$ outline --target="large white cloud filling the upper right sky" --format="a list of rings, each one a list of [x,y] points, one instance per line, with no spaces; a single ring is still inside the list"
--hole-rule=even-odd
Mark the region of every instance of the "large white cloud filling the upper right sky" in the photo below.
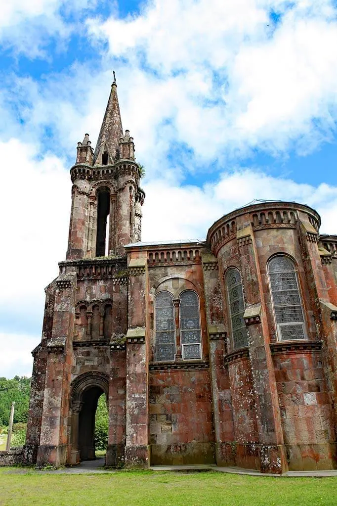
[[[276,25],[272,9],[281,15]],[[337,23],[328,0],[291,7],[157,0],[137,17],[87,24],[92,37],[108,41],[111,57],[135,69],[142,100],[134,116],[157,132],[169,117],[171,141],[187,143],[203,160],[256,147],[282,152],[294,143],[305,153],[331,138]]]

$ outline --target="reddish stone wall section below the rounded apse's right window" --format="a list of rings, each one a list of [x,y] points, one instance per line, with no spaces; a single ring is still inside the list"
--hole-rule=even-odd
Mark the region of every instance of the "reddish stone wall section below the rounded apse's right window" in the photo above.
[[[293,471],[332,468],[336,457],[320,343],[309,348],[279,347],[273,354],[284,444]]]

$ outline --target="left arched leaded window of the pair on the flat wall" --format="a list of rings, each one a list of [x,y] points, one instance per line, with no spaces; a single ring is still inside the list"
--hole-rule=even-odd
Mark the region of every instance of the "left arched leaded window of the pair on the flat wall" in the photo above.
[[[173,297],[168,291],[160,291],[155,299],[156,360],[174,360],[175,326]]]

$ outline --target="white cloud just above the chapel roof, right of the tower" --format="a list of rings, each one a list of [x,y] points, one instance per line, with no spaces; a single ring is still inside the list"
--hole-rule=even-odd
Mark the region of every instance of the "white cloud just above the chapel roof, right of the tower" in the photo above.
[[[225,172],[202,188],[160,179],[145,185],[145,190],[143,241],[203,239],[214,221],[254,199],[305,203],[320,213],[322,232],[337,232],[337,186],[324,183],[314,187],[246,168]]]

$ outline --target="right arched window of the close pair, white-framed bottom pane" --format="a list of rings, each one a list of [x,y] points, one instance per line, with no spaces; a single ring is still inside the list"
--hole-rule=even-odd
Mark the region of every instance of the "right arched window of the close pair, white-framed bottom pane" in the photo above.
[[[201,330],[199,298],[192,290],[180,295],[180,340],[182,358],[192,360],[201,358]]]

